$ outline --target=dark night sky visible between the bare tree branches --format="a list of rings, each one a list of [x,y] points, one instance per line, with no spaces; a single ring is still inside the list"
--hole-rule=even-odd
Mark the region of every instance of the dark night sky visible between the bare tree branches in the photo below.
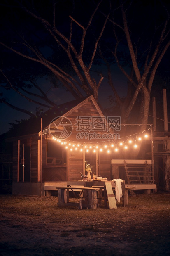
[[[35,5],[37,4],[36,5],[36,7],[37,7],[39,1],[34,1],[34,2],[35,2]],[[63,2],[65,2],[65,4],[67,4],[67,5],[65,5],[66,9],[63,8]],[[58,25],[58,28],[61,29],[62,31],[65,31],[65,34],[68,35],[68,31],[67,31],[68,30],[67,22],[68,22],[68,19],[69,19],[68,17],[72,13],[75,15],[76,12],[75,13],[72,12],[72,5],[70,4],[70,2],[72,2],[71,0],[70,1],[66,0],[66,1],[63,1],[63,2],[59,1],[58,5],[57,5],[57,14],[60,13],[61,15],[63,15],[63,19],[62,19],[62,22],[60,24],[61,15],[58,14],[59,16],[56,17],[56,26]],[[96,2],[98,2],[98,1],[96,1]],[[106,3],[107,1],[104,0],[103,2]],[[147,4],[145,4],[145,5],[142,4],[143,2],[144,1],[139,1],[139,5],[142,5],[143,11],[146,11],[146,13],[148,14],[149,7],[147,6]],[[151,1],[151,3],[152,2],[154,3],[154,1]],[[157,2],[158,1],[156,1],[156,4],[158,5]],[[163,1],[163,2],[166,3],[166,1]],[[75,3],[77,4],[77,2],[75,2]],[[88,12],[90,12],[93,9],[92,4],[91,4],[91,9],[90,10],[88,9],[89,1],[82,1],[81,0],[81,1],[79,1],[79,4],[82,4],[82,6],[85,7],[85,11],[88,10]],[[7,5],[9,5],[10,8]],[[37,33],[37,35],[36,35],[37,37],[35,36],[35,38],[39,38],[40,41],[41,41],[41,39],[42,39],[41,37],[44,36],[44,34],[43,34],[44,31],[41,31],[41,28],[39,26],[37,26],[37,27],[35,26],[35,30],[34,30],[33,21],[30,22],[29,19],[26,19],[25,16],[24,16],[25,15],[24,12],[20,12],[21,16],[17,16],[19,14],[19,12],[18,12],[18,9],[15,8],[15,6],[16,6],[16,1],[15,0],[2,1],[2,3],[1,3],[2,8],[1,8],[1,20],[0,20],[0,23],[1,23],[0,24],[1,25],[1,40],[0,41],[2,43],[5,43],[5,44],[13,47],[13,43],[14,43],[13,40],[17,39],[17,36],[14,36],[15,32],[18,33],[21,30],[21,33],[23,33],[24,26],[26,26],[26,28],[28,29],[28,33],[30,33],[31,30],[32,30],[33,33]],[[107,4],[105,6],[107,6]],[[169,7],[170,7],[170,5],[168,5],[168,8]],[[147,10],[147,8],[148,8],[148,10]],[[153,5],[153,8],[154,8],[154,5]],[[40,9],[38,9],[38,11],[40,11],[42,14],[44,14],[44,17],[49,18],[48,14],[46,15],[46,11],[48,13],[49,9],[50,9],[50,5],[48,5],[47,10],[46,10],[46,6],[44,4],[44,5],[41,6]],[[63,10],[65,10],[65,11],[63,11]],[[107,11],[107,7],[106,7],[105,11]],[[169,11],[169,9],[168,9],[168,11]],[[136,12],[136,9],[134,9],[134,10],[132,9],[131,12],[134,14],[134,12]],[[12,16],[9,17],[9,14],[12,14],[13,17]],[[74,17],[76,17],[77,20],[80,20],[81,24],[84,23],[83,25],[85,25],[86,24],[85,16],[82,15],[82,17],[81,17],[81,14],[78,13],[78,12],[76,14],[77,14],[77,17],[76,17],[76,15]],[[136,21],[134,22],[134,20],[137,18],[138,15],[140,15],[139,19],[137,20],[137,22]],[[142,19],[141,19],[142,16],[141,15],[142,14],[137,14],[137,12],[134,14],[134,17],[133,17],[134,20],[133,20],[133,26],[132,26],[133,32],[135,31],[135,28],[137,28],[137,29],[139,28],[139,31],[142,28],[144,29],[144,26],[146,26],[146,23],[148,22],[148,21],[144,21],[144,20],[142,21]],[[84,17],[84,20],[83,20],[83,17]],[[154,16],[150,15],[151,20],[153,19],[153,17]],[[162,21],[164,21],[163,15],[162,16],[160,15],[160,19],[162,19]],[[14,25],[13,27],[9,26],[9,24],[11,24],[12,21],[13,22],[15,21],[14,24],[13,24]],[[96,30],[98,30],[98,27],[100,26],[100,22],[97,22],[97,19],[96,19],[95,22],[96,22]],[[155,25],[158,25],[158,24],[155,23]],[[93,24],[93,26],[95,26],[95,25]],[[169,26],[169,24],[168,24],[168,26]],[[16,28],[16,31],[14,30],[15,28]],[[134,36],[134,38],[133,38],[134,40],[136,39],[135,37],[137,37],[137,34],[138,34],[138,31],[136,31],[136,34],[132,33],[132,35]],[[30,33],[30,35],[31,35],[31,33]],[[26,39],[28,39],[28,37],[29,37],[28,34],[25,34],[24,36],[25,36]],[[34,37],[34,35],[32,35],[32,36]],[[108,34],[107,34],[107,37],[108,37]],[[36,43],[38,43],[40,45],[40,41],[38,41],[39,39],[35,39],[35,42],[37,40]],[[77,41],[78,41],[78,39],[79,39],[79,36],[77,36]],[[108,37],[107,40],[108,41],[110,40],[110,42],[112,42],[113,38]],[[51,41],[49,40],[49,38],[47,38],[47,40],[44,40],[43,43],[48,45],[48,44],[51,44]],[[145,43],[147,44],[147,38],[145,40]],[[17,45],[17,47],[15,49],[16,50],[21,50],[22,49],[23,52],[24,52],[24,47],[23,48],[22,47],[23,46],[21,46],[21,48],[20,48],[20,46]],[[41,47],[44,47],[44,45],[43,44],[40,45],[40,48]],[[53,45],[52,45],[51,49],[54,50]],[[126,55],[126,50],[127,49],[123,48],[123,47],[121,49],[122,49],[121,54]],[[16,69],[18,68],[19,65],[24,66],[25,65],[24,58],[23,58],[23,62],[20,59],[18,61],[18,55],[14,54],[14,53],[11,53],[10,50],[5,49],[5,47],[3,47],[2,45],[0,46],[0,52],[1,52],[1,60],[0,61],[2,63],[1,67],[2,67],[3,71],[5,72],[5,75],[9,79],[11,79],[11,81],[17,81],[17,79],[19,79],[19,74],[17,74],[16,78],[14,77],[14,75],[11,78],[10,77],[11,69],[15,65],[16,65]],[[163,66],[167,70],[168,70],[168,65],[169,65],[169,58],[168,58],[169,53],[170,53],[170,51],[168,50],[167,54],[163,58]],[[47,54],[49,54],[49,52]],[[45,55],[45,52],[44,52],[44,55]],[[28,70],[29,65],[30,65],[30,70]],[[31,68],[34,68],[32,66],[31,62],[30,62],[29,65],[26,64],[26,71],[28,71],[28,77],[29,77],[29,72],[30,73],[32,72]],[[37,69],[39,69],[39,67],[40,67],[38,65],[37,65]],[[162,65],[162,63],[161,63],[161,65]],[[113,67],[112,68],[112,78],[114,80],[114,86],[115,86],[115,88],[116,88],[120,97],[126,96],[126,93],[127,93],[127,88],[126,88],[127,79],[121,73],[121,71],[117,68],[116,65],[113,64],[112,67]],[[103,74],[107,75],[107,72],[105,70],[105,66],[102,66],[97,61],[96,61],[96,65],[93,68],[95,70],[98,70],[98,71],[101,70]],[[165,69],[164,69],[164,71],[166,71]],[[23,70],[24,69],[20,69],[19,72],[23,73]],[[47,74],[45,74],[44,72],[45,72],[44,69],[40,70],[40,78],[37,78],[38,77],[38,72],[37,73],[35,72],[34,75],[38,79],[39,84],[41,84],[41,88],[43,88],[44,91],[47,91],[47,88],[49,88],[51,85],[53,86],[51,81],[52,81],[52,79],[54,79],[54,77],[51,78],[51,75],[49,75],[48,72],[47,72]],[[161,69],[160,69],[160,72],[161,72]],[[14,70],[13,70],[13,73],[14,73]],[[169,83],[168,83],[168,81],[169,81],[168,76],[169,75],[167,76],[167,73],[168,73],[167,71],[165,73],[163,73],[162,81],[164,81],[163,83],[165,85],[165,88],[168,89],[168,93],[169,93]],[[94,75],[94,77],[95,77],[95,75]],[[0,78],[1,78],[1,85],[4,85],[4,77],[2,76],[2,74],[1,74]],[[47,78],[47,79],[45,79],[45,78]],[[160,76],[159,76],[159,78],[160,78]],[[156,90],[155,90],[155,88],[153,89],[153,95],[154,95],[154,93],[155,93],[155,95],[160,95],[163,83],[161,85],[159,85],[159,87]],[[28,102],[28,100],[24,99],[23,97],[21,97],[20,95],[18,95],[16,92],[14,92],[12,90],[4,90],[1,87],[0,92],[3,93],[2,97],[5,97],[10,104],[14,104],[14,105],[16,105],[17,107],[20,107],[20,108],[23,107],[24,109],[28,109],[30,112],[35,114],[35,110],[36,110],[36,107],[37,107],[37,105],[35,103]],[[71,101],[71,100],[75,99],[70,94],[70,92],[66,91],[65,88],[63,88],[61,85],[60,85],[59,88],[53,88],[50,92],[48,92],[47,95],[49,96],[50,100],[52,100],[56,104],[62,104],[64,102],[68,102],[68,101]],[[102,84],[100,85],[99,97],[98,97],[98,102],[104,108],[110,106],[109,105],[109,100],[108,100],[109,95],[113,95],[113,91],[111,90],[110,86],[107,83],[107,78],[105,78],[102,81]],[[86,95],[84,95],[84,96],[86,96]],[[41,107],[41,108],[43,108],[44,111],[47,110],[47,108],[45,108],[45,107]],[[9,130],[9,128],[10,128],[9,123],[14,123],[15,120],[21,120],[21,119],[29,118],[29,116],[27,114],[16,111],[16,110],[10,108],[9,106],[5,105],[4,103],[0,104],[0,117],[1,117],[0,134],[5,133],[6,131]]]

